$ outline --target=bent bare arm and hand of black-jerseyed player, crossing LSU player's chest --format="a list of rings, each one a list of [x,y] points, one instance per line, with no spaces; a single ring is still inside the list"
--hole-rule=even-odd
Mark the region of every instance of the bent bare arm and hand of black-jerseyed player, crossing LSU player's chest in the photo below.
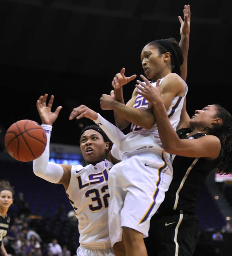
[[[139,92],[139,94],[149,97],[150,103],[153,105],[164,150],[178,156],[216,159],[221,150],[220,140],[216,136],[208,135],[196,140],[179,139],[169,121],[167,108],[161,97],[161,85],[159,83],[160,80],[157,81],[157,88],[147,84],[144,89],[141,88],[142,92]]]

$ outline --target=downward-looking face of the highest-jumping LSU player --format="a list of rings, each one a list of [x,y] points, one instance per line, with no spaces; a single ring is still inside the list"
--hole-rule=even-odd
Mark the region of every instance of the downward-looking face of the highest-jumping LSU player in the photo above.
[[[152,45],[145,45],[141,53],[143,70],[148,79],[156,81],[161,78],[160,74],[166,66],[163,61],[163,54]]]

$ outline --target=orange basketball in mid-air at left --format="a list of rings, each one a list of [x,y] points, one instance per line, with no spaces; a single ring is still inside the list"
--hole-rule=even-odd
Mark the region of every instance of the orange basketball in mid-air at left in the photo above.
[[[20,120],[12,124],[5,134],[5,147],[14,159],[21,162],[40,157],[47,144],[41,125],[32,120]]]

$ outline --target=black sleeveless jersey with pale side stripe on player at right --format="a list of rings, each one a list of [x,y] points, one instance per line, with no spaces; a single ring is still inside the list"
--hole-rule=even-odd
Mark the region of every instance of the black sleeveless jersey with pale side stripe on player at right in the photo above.
[[[190,132],[190,129],[179,129],[177,134],[180,139],[186,139]],[[206,134],[196,133],[188,139],[198,139],[201,136]],[[173,210],[182,210],[186,213],[195,213],[199,188],[205,182],[217,159],[209,161],[205,158],[176,155],[172,155],[171,158],[173,179],[158,212],[167,214]]]

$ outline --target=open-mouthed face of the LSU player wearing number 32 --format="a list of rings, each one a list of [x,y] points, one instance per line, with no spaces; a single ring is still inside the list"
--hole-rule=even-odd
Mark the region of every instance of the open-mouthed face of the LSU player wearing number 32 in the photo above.
[[[81,135],[81,153],[87,164],[97,164],[104,160],[109,142],[105,142],[102,135],[95,130],[86,130]]]

